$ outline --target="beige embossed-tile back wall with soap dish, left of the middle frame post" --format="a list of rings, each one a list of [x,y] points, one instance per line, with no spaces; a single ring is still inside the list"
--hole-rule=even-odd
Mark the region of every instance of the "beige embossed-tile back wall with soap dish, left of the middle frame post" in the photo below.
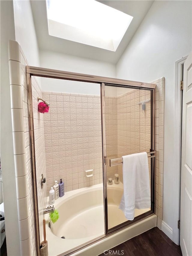
[[[101,100],[97,95],[43,92],[47,193],[54,181],[64,191],[103,182]],[[85,170],[93,176],[85,177]]]

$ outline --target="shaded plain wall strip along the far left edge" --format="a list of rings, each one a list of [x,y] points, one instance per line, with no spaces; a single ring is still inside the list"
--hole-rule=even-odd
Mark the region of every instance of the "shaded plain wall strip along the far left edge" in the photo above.
[[[1,170],[7,255],[21,255],[13,157],[8,40],[15,40],[13,1],[0,1],[1,9]],[[6,24],[6,26],[5,26]]]

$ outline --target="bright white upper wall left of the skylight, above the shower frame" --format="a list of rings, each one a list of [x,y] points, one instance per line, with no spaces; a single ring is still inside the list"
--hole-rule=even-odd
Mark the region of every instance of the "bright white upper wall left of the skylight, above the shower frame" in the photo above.
[[[31,66],[40,66],[39,47],[29,0],[13,0],[15,40],[20,44]]]

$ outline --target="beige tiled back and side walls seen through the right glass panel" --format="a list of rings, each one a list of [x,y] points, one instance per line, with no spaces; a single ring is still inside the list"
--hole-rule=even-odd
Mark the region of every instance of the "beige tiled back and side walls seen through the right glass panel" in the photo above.
[[[138,152],[149,152],[151,134],[151,105],[146,103],[142,111],[138,102],[150,99],[150,91],[132,90],[118,97],[106,97],[106,144],[107,157],[120,158]],[[150,169],[150,161],[149,161]],[[122,165],[107,167],[107,178],[119,173]]]

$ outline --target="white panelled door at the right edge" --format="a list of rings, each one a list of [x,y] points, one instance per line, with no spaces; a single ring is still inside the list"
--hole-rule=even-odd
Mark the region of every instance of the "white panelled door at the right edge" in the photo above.
[[[192,255],[192,55],[184,63],[181,159],[180,245]]]

